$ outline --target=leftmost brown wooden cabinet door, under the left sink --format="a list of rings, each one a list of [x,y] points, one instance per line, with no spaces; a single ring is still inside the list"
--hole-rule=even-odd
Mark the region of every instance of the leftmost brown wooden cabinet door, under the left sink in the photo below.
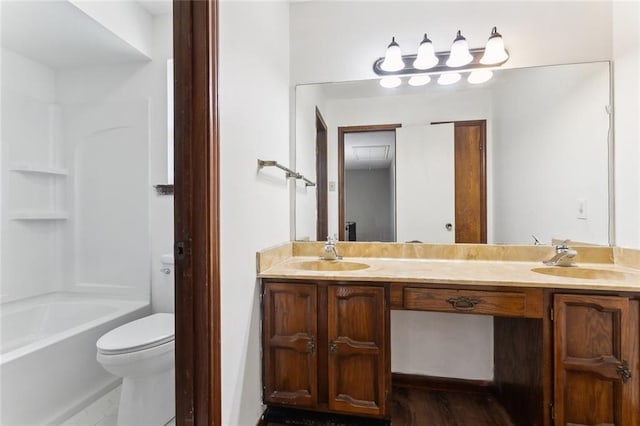
[[[265,403],[316,406],[317,304],[317,288],[313,284],[264,285]]]

